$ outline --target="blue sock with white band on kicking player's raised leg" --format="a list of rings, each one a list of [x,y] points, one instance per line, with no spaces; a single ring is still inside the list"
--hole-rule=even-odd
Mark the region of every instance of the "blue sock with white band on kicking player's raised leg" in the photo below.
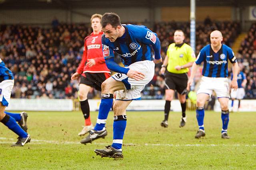
[[[94,127],[94,130],[101,131],[105,125],[106,120],[108,117],[108,112],[110,111],[112,104],[113,104],[113,94],[102,94],[101,95],[101,102],[100,102],[100,109],[98,114],[98,119],[96,122],[96,125]]]

